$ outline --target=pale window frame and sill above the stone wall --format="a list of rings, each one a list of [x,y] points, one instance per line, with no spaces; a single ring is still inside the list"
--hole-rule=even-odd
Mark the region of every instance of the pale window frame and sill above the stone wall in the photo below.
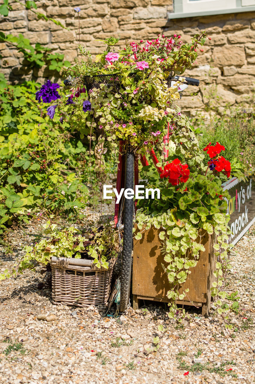
[[[194,12],[185,12],[185,7],[183,7],[183,3],[184,2],[187,3],[187,0],[174,0],[173,1],[174,12],[168,12],[168,19],[207,16],[207,15],[224,15],[226,13],[240,13],[240,12],[255,11],[255,5],[242,5],[242,4],[250,4],[253,0],[235,0],[233,4],[235,6],[233,8],[225,8],[225,9],[212,9],[212,7],[210,7],[210,4],[213,5],[214,0],[208,0],[208,1],[201,0],[201,1],[203,1],[203,3],[206,3],[206,2],[208,3],[208,10],[202,10],[202,11],[195,10]],[[196,2],[194,1],[194,4],[195,3]],[[196,5],[198,5],[198,3]]]

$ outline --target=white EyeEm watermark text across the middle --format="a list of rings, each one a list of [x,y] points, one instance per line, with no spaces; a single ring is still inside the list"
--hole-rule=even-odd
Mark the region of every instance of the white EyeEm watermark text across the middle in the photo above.
[[[103,198],[104,199],[112,199],[112,196],[109,196],[109,194],[115,193],[115,196],[117,197],[116,203],[119,204],[121,196],[124,192],[124,197],[126,199],[155,199],[155,192],[157,192],[157,199],[160,199],[160,190],[158,188],[152,189],[152,188],[145,188],[144,185],[136,185],[135,191],[131,188],[121,188],[119,194],[116,188],[113,188],[112,185],[104,185],[103,186]],[[144,197],[145,192],[145,197]],[[150,197],[149,197],[150,193]]]

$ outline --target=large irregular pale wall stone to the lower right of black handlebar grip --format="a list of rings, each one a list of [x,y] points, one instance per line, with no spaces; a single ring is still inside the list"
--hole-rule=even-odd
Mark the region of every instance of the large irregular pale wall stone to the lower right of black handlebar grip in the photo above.
[[[209,104],[210,107],[233,105],[236,101],[235,93],[224,88],[221,84],[202,86],[200,92],[203,96],[204,104]]]

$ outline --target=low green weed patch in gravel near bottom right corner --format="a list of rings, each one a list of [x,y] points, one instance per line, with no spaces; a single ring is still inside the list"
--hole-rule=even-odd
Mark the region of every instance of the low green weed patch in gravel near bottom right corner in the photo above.
[[[200,362],[194,363],[192,365],[188,365],[183,359],[178,358],[179,362],[178,369],[183,369],[189,372],[202,372],[204,370],[210,373],[218,373],[220,376],[224,377],[226,375],[231,375],[232,377],[237,377],[237,374],[233,373],[232,368],[226,369],[227,365],[235,365],[233,361],[222,362],[219,366],[217,364],[213,364],[213,367],[210,367],[210,363],[206,362],[205,364],[201,364]]]

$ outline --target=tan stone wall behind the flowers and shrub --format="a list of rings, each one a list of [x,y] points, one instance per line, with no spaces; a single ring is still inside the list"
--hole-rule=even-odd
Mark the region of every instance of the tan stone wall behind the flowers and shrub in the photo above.
[[[60,20],[69,30],[37,20],[33,12],[15,2],[8,17],[0,20],[0,30],[22,33],[32,43],[47,45],[72,61],[77,55],[78,17],[73,9],[79,5],[77,0],[42,0],[36,4],[38,12]],[[123,47],[125,39],[151,39],[162,32],[169,37],[177,33],[186,42],[205,30],[212,40],[207,41],[203,54],[199,52],[193,69],[185,73],[200,79],[200,85],[185,91],[180,106],[195,115],[208,107],[223,113],[226,106],[251,105],[255,88],[254,12],[167,20],[167,12],[173,10],[172,0],[88,0],[80,8],[80,40],[93,55],[103,50],[103,43],[96,40],[109,36],[120,36],[119,46]],[[52,76],[45,68],[27,73],[22,55],[5,43],[0,43],[0,54],[1,71],[10,81],[32,77],[43,82]]]

